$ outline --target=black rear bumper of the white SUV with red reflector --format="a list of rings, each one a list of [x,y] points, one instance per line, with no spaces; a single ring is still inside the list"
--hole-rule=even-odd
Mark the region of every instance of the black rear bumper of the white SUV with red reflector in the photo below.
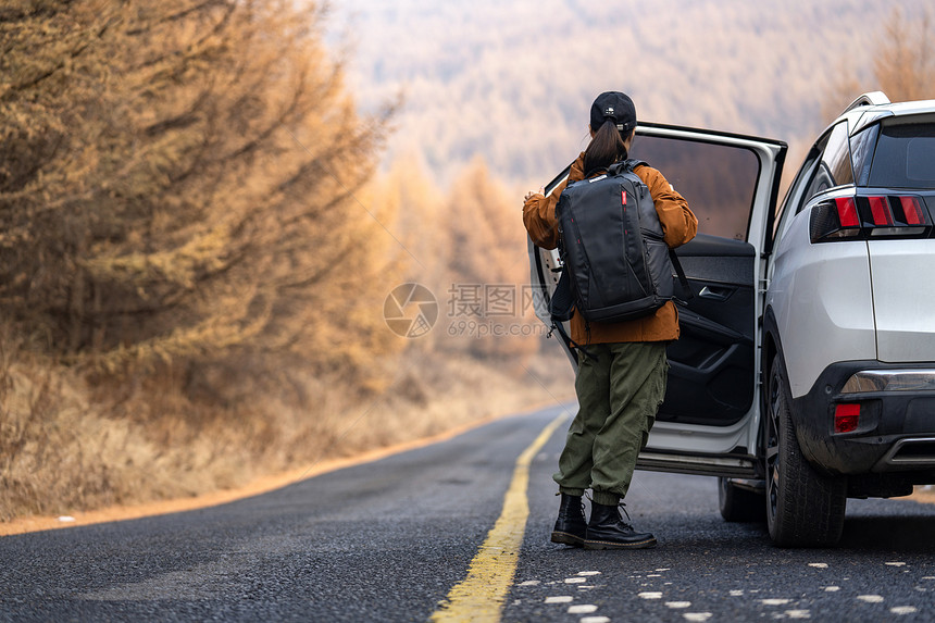
[[[793,418],[802,452],[823,471],[935,482],[935,362],[832,364],[793,400]]]

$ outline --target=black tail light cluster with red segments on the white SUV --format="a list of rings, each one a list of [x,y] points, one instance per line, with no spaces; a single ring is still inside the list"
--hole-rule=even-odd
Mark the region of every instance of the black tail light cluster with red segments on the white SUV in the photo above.
[[[921,197],[912,195],[837,197],[822,201],[811,213],[812,242],[867,238],[924,238],[932,217]]]

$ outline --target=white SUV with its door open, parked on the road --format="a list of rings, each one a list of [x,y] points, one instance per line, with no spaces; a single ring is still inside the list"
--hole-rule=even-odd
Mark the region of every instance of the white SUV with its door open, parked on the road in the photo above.
[[[724,519],[765,518],[782,546],[831,545],[847,497],[935,483],[935,101],[859,98],[776,210],[785,154],[637,127],[632,157],[699,220],[677,249],[695,296],[638,466],[719,476]],[[529,258],[551,324],[558,254],[529,242]]]

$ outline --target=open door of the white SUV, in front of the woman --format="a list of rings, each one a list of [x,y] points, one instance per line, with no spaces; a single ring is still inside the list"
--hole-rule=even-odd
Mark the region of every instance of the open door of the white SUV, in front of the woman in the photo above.
[[[682,337],[669,346],[665,401],[637,466],[756,477],[760,286],[787,147],[658,124],[639,125],[636,135],[629,157],[661,171],[698,217],[698,236],[676,249],[694,297],[678,306]],[[536,315],[551,325],[561,263],[557,251],[528,245]]]

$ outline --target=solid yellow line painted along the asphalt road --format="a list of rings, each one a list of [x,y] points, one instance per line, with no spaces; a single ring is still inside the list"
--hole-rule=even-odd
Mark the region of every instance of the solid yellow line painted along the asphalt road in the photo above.
[[[529,515],[526,500],[529,464],[566,419],[568,414],[563,413],[552,420],[516,459],[513,479],[507,489],[503,510],[497,523],[487,533],[477,556],[471,561],[467,577],[451,588],[448,598],[439,603],[438,610],[432,615],[432,621],[500,621],[503,600],[516,573],[526,518]]]

